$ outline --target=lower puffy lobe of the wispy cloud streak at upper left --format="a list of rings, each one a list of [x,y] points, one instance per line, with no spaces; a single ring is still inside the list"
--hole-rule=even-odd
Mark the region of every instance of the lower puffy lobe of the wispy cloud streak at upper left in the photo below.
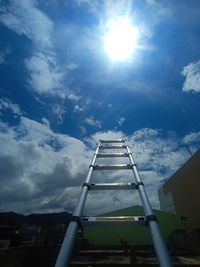
[[[29,83],[39,94],[59,95],[64,98],[62,79],[55,59],[43,53],[36,53],[25,60],[25,66],[30,72]]]

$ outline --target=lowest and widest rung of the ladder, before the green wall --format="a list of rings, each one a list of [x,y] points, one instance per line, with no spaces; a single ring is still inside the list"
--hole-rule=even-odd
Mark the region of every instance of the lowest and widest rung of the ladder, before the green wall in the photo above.
[[[145,216],[112,216],[112,217],[82,217],[82,224],[87,226],[109,226],[109,225],[145,225]]]

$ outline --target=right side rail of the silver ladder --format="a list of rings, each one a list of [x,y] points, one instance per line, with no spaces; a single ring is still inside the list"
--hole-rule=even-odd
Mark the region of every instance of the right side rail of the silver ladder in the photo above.
[[[143,204],[144,214],[145,214],[146,218],[149,218],[149,216],[150,216],[150,218],[152,218],[152,217],[155,218],[155,215],[154,215],[154,212],[151,208],[151,204],[149,202],[149,198],[147,196],[144,184],[142,183],[142,181],[140,179],[136,164],[133,160],[132,153],[130,152],[129,146],[128,146],[126,141],[125,141],[125,144],[126,144],[127,152],[129,154],[129,160],[130,160],[130,163],[132,165],[135,181],[138,184],[138,192],[139,192],[142,204]],[[169,256],[167,246],[166,246],[164,239],[162,237],[162,234],[160,232],[160,228],[159,228],[157,220],[149,220],[148,221],[148,227],[150,230],[153,245],[154,245],[160,266],[161,267],[173,266],[171,258]]]

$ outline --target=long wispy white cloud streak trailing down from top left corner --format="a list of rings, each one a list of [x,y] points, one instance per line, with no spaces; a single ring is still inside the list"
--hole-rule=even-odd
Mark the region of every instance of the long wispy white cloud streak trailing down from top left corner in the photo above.
[[[33,91],[39,95],[56,95],[72,101],[80,99],[63,84],[64,72],[59,66],[52,42],[54,23],[39,9],[37,1],[5,1],[0,7],[0,22],[18,35],[26,36],[34,44],[36,52],[24,61]],[[8,49],[0,53],[0,64],[5,63],[8,53]],[[78,65],[72,62],[66,68],[68,72],[78,68]]]

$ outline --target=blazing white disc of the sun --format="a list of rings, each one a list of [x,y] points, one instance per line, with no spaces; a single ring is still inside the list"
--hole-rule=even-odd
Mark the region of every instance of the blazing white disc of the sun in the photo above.
[[[110,20],[104,36],[104,49],[112,61],[125,61],[132,57],[138,42],[138,30],[127,17]]]

